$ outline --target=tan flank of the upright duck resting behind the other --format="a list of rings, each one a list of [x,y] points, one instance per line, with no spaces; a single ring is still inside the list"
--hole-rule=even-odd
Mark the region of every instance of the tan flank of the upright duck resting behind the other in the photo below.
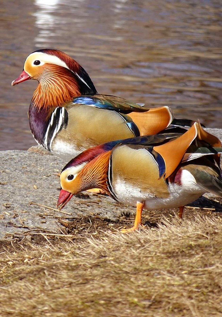
[[[137,126],[125,114],[82,104],[66,109],[67,124],[57,137],[81,149],[139,135]]]

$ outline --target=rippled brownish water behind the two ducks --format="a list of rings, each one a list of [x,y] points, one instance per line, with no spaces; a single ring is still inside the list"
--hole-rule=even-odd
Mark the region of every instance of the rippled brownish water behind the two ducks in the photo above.
[[[35,145],[27,111],[36,81],[11,87],[32,51],[76,59],[98,92],[222,127],[221,1],[1,1],[0,149]]]

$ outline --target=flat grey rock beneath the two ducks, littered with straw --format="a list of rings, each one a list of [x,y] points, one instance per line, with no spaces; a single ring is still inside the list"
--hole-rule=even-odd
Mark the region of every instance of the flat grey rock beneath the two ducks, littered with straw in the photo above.
[[[207,131],[222,139],[221,129]],[[56,210],[60,190],[58,173],[67,162],[47,155],[40,147],[33,148],[31,152],[0,152],[0,239],[22,237],[29,232],[61,233],[63,228],[58,220],[62,218],[99,215],[117,220],[121,213],[135,214],[133,207],[87,192],[72,197],[61,211]]]

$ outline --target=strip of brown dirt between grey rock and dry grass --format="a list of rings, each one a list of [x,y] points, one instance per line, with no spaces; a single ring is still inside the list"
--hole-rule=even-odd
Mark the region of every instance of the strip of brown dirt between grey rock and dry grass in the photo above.
[[[99,196],[100,195],[95,195]],[[115,203],[117,207],[121,208],[122,204]],[[205,206],[205,207],[202,207]],[[172,221],[177,218],[178,210],[156,210],[153,212],[144,211],[142,220],[143,224],[147,229],[158,228],[159,224],[163,224],[161,219],[167,219]],[[134,215],[135,216],[135,215]],[[189,204],[185,207],[183,212],[183,220],[195,221],[196,217],[206,217],[213,216],[213,218],[222,218],[222,198],[217,197],[217,199],[207,199],[201,197],[194,203]],[[44,218],[44,216],[42,217]],[[75,241],[81,242],[88,237],[94,237],[96,239],[101,239],[106,235],[107,232],[117,232],[124,228],[130,228],[133,226],[134,217],[127,212],[123,212],[117,221],[112,221],[110,219],[104,219],[97,215],[95,216],[83,216],[78,218],[66,217],[58,218],[58,223],[62,226],[60,227],[60,234],[56,235],[50,232],[44,232],[44,230],[28,230],[24,235],[12,235],[14,243],[19,243],[22,245],[27,245],[30,242],[34,244],[45,243],[45,237],[49,238],[52,243],[57,243],[61,239],[75,239]],[[180,221],[180,220],[178,220]],[[182,223],[181,222],[181,223]],[[62,228],[62,229],[61,229]],[[10,249],[11,242],[7,240],[0,241],[0,251],[5,248]]]

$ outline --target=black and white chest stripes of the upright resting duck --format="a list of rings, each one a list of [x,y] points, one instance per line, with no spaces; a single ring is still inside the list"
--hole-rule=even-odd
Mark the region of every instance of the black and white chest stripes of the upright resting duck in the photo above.
[[[46,126],[46,133],[43,141],[43,146],[46,150],[52,150],[52,142],[55,139],[57,133],[67,126],[68,123],[68,113],[64,107],[57,107],[52,112],[49,120],[48,125]]]

